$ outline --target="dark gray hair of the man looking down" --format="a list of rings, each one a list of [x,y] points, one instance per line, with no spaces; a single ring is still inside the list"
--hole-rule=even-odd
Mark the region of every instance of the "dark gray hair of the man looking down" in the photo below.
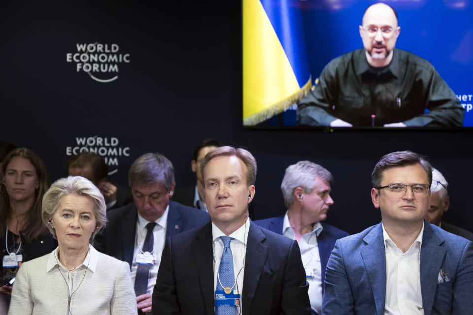
[[[128,172],[128,185],[161,183],[166,189],[174,184],[174,167],[160,153],[146,153],[137,158]]]

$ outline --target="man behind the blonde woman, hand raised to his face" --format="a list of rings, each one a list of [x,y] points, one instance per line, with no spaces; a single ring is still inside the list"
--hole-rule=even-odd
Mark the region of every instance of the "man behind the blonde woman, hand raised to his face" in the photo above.
[[[97,186],[107,205],[107,210],[116,209],[133,202],[128,187],[107,180],[108,167],[105,160],[93,153],[82,152],[68,161],[69,176],[82,176]]]

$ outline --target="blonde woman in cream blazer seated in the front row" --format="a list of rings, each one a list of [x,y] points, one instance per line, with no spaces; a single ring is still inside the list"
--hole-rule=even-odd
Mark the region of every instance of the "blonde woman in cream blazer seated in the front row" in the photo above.
[[[9,315],[137,314],[128,263],[90,245],[106,223],[105,209],[100,190],[83,177],[51,185],[42,220],[59,246],[21,265]]]

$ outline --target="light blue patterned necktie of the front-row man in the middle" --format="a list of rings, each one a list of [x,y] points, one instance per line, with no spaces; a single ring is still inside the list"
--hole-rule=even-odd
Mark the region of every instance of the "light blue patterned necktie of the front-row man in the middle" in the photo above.
[[[220,259],[220,266],[218,267],[218,278],[217,290],[223,290],[225,287],[222,285],[229,286],[232,288],[232,292],[235,289],[235,272],[233,270],[233,255],[230,249],[230,242],[233,240],[230,236],[220,236],[223,242],[222,259]],[[220,285],[222,283],[222,285]],[[215,307],[215,315],[236,315],[235,306],[217,306]]]

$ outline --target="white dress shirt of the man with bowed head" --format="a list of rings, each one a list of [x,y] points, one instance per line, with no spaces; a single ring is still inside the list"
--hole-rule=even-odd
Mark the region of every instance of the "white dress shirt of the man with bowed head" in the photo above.
[[[156,263],[151,267],[149,271],[148,279],[148,291],[147,293],[152,294],[154,285],[156,284],[156,277],[158,276],[159,264],[161,263],[161,255],[163,253],[164,244],[166,243],[166,228],[168,226],[168,212],[169,205],[166,207],[161,218],[156,220],[156,226],[153,228],[153,252],[152,255],[155,258]],[[136,255],[141,253],[143,248],[143,243],[146,239],[146,234],[148,230],[146,229],[146,224],[150,221],[144,219],[138,214],[138,220],[136,221],[136,235],[135,235],[135,251],[133,252],[133,262],[131,269],[132,283],[135,284],[136,269],[138,265],[136,264]]]

